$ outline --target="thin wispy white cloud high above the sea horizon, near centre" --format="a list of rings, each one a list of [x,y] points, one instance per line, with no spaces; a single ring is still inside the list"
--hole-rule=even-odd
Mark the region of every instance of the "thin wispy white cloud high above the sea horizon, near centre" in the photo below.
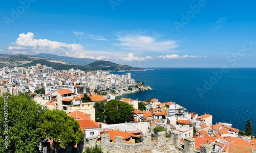
[[[162,53],[172,53],[179,45],[177,41],[166,40],[157,41],[156,38],[150,36],[141,35],[127,35],[124,37],[118,36],[118,40],[121,41],[116,46],[123,46],[122,49],[133,50],[133,51],[152,51]],[[177,51],[175,51],[177,52]]]

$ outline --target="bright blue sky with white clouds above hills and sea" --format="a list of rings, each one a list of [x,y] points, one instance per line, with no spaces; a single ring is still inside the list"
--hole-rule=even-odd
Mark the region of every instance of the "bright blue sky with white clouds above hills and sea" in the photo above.
[[[255,1],[0,2],[0,53],[131,66],[256,67]]]

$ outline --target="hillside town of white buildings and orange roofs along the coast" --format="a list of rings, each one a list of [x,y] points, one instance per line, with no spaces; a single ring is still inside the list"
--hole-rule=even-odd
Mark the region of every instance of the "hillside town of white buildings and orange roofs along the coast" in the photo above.
[[[114,93],[100,95],[95,93],[95,90],[106,92],[133,86],[135,80],[131,78],[131,73],[117,75],[107,71],[84,72],[74,69],[57,71],[52,67],[37,64],[32,67],[11,69],[3,67],[0,69],[0,78],[0,94],[29,93],[34,95],[33,99],[41,106],[49,110],[63,110],[75,118],[83,131],[86,140],[84,145],[99,144],[107,150],[111,145],[129,144],[126,151],[133,148],[132,145],[140,149],[140,145],[136,143],[141,143],[137,140],[142,136],[145,137],[142,143],[147,142],[150,148],[150,145],[154,145],[156,141],[160,142],[161,139],[165,141],[167,133],[175,149],[169,148],[169,152],[251,153],[256,151],[254,146],[256,140],[248,136],[240,136],[239,130],[232,127],[232,124],[212,123],[211,114],[188,112],[186,108],[173,101],[163,102],[157,97],[148,100],[122,97],[118,100],[133,106],[134,121],[118,124],[99,122],[96,118],[95,103],[104,101],[106,104],[116,99],[116,96]],[[41,88],[45,88],[45,93],[36,93]],[[83,102],[84,96],[90,97],[91,101]],[[140,104],[145,106],[145,110],[139,110]],[[161,132],[157,133],[155,139],[152,137],[155,134],[153,129],[157,126],[164,127],[166,133],[163,137],[160,137]],[[51,140],[46,142],[52,143]],[[123,146],[127,147],[127,145]],[[152,149],[155,152],[164,152],[161,151],[161,146]]]

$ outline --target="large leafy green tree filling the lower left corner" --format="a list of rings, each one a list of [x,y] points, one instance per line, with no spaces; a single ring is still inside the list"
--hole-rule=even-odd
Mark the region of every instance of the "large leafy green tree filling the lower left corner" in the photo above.
[[[0,152],[39,151],[41,135],[36,122],[45,111],[25,94],[0,96]]]

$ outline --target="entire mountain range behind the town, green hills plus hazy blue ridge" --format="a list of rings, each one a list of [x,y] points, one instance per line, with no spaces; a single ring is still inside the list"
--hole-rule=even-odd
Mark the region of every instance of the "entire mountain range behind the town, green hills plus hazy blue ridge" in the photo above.
[[[71,68],[80,70],[110,70],[110,71],[125,71],[125,70],[144,70],[138,67],[129,65],[120,65],[110,61],[100,61],[89,58],[72,58],[65,56],[57,56],[52,54],[37,54],[29,55],[6,55],[0,54],[0,67],[25,67],[33,66],[37,63],[41,65],[51,66],[56,70],[68,70]]]

